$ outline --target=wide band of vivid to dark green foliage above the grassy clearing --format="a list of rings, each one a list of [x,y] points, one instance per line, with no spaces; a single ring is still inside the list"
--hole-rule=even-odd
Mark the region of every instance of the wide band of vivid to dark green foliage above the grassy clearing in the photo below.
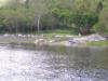
[[[68,10],[53,10],[53,14],[63,25],[75,24],[78,28],[92,27],[98,21],[95,12],[78,13]]]

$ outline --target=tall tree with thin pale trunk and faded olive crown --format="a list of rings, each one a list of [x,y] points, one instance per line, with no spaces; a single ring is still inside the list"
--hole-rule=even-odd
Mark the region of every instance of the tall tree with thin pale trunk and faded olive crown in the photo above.
[[[32,13],[31,16],[35,18],[32,19],[35,24],[37,25],[38,29],[38,35],[40,33],[40,23],[41,23],[41,17],[48,13],[48,5],[46,1],[44,0],[31,0],[29,4],[30,12]]]

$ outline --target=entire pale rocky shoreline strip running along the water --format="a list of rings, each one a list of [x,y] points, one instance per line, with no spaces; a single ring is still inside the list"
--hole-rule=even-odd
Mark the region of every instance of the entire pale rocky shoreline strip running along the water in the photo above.
[[[0,43],[33,43],[39,45],[65,45],[76,46],[85,45],[85,42],[98,42],[100,40],[107,40],[98,33],[90,36],[54,36],[52,38],[46,36],[31,36],[31,35],[0,35]]]

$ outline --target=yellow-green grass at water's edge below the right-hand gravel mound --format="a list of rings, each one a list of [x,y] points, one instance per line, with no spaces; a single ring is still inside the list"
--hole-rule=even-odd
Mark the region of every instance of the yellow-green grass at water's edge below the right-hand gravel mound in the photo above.
[[[98,42],[85,42],[85,44],[92,46],[108,46],[108,40],[103,40]]]

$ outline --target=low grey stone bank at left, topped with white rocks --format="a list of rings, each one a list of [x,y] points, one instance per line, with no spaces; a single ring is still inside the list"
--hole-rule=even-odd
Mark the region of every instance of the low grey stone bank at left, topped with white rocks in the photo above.
[[[0,35],[0,42],[33,42],[36,40],[35,36],[30,36],[30,35]]]

